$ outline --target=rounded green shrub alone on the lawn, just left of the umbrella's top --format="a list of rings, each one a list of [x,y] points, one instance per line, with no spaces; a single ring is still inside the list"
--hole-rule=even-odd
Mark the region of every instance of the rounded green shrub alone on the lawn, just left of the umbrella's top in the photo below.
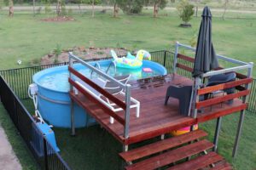
[[[177,11],[181,20],[188,24],[194,14],[194,5],[190,4],[187,0],[182,0],[177,5]]]

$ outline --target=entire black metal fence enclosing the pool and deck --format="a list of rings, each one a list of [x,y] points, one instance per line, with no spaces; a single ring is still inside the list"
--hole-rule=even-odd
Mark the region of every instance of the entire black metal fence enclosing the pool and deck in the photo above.
[[[168,73],[173,71],[174,53],[170,51],[151,52],[152,60],[164,65]],[[104,58],[109,59],[109,58]],[[97,60],[97,59],[90,59]],[[87,61],[90,61],[87,60]],[[179,63],[192,67],[192,63],[185,60],[179,60]],[[0,71],[0,97],[1,101],[13,120],[15,127],[20,131],[20,135],[25,140],[28,148],[32,151],[33,156],[38,161],[42,169],[70,169],[67,163],[62,160],[61,156],[55,152],[53,147],[45,139],[44,134],[38,133],[35,129],[35,122],[31,114],[26,110],[20,99],[28,99],[27,88],[32,83],[32,76],[46,68],[67,65],[68,63],[59,63],[52,65],[38,65],[20,69]],[[189,71],[177,68],[177,73],[184,77],[191,77]],[[248,110],[256,112],[256,80],[253,80],[252,93]],[[32,144],[33,143],[33,144]],[[38,148],[38,150],[36,150]],[[39,154],[38,154],[39,153]]]

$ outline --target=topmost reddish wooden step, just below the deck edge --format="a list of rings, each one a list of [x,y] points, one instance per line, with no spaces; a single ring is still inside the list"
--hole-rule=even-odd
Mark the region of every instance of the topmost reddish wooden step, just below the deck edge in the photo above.
[[[168,150],[181,144],[188,143],[195,139],[201,139],[206,136],[207,133],[205,131],[195,130],[191,133],[185,133],[170,139],[160,140],[159,142],[155,142],[153,144],[147,144],[134,150],[122,152],[119,154],[119,156],[121,156],[125,161],[135,161],[145,156],[151,156],[155,153],[159,153],[160,151]]]

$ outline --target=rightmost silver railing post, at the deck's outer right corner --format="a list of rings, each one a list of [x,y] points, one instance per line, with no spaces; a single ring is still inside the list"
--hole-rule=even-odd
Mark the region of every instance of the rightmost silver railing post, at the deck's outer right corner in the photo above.
[[[247,78],[250,78],[253,75],[253,62],[250,62],[249,65],[250,65],[250,67],[247,70]],[[250,89],[251,88],[251,83],[246,84],[245,88]],[[247,100],[248,100],[248,95],[244,96],[242,98],[242,103],[247,103]],[[239,118],[237,132],[236,132],[236,140],[235,140],[233,153],[232,153],[233,157],[236,156],[236,151],[238,149],[238,143],[239,143],[239,139],[240,139],[240,136],[241,136],[241,128],[242,128],[242,123],[244,121],[245,111],[246,110],[242,110],[241,113],[240,113],[240,118]]]

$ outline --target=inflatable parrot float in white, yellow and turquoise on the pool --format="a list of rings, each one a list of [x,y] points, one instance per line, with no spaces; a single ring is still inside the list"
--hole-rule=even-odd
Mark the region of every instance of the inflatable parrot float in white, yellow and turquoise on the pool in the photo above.
[[[113,62],[117,67],[126,69],[140,68],[143,65],[143,59],[151,59],[151,55],[143,49],[137,52],[136,57],[128,52],[126,57],[119,58],[113,50],[111,50],[111,55],[113,57]]]

